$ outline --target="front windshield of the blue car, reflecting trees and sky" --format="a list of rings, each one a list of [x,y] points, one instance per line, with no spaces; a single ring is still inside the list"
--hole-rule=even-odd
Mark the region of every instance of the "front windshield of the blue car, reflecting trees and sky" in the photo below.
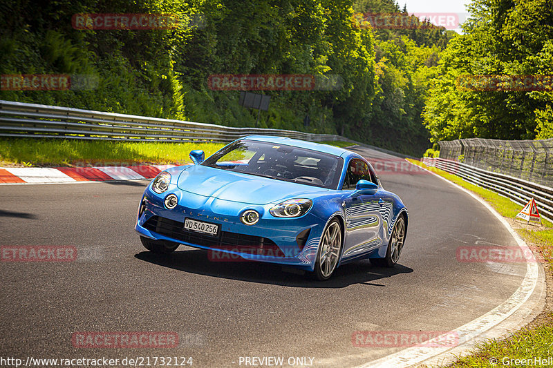
[[[202,165],[336,189],[344,159],[306,148],[241,140],[214,153]]]

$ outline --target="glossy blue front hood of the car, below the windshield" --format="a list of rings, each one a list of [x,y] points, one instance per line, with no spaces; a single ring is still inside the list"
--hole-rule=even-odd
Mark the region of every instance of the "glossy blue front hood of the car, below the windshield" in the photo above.
[[[310,198],[328,191],[317,186],[234,173],[203,165],[190,166],[182,171],[177,186],[189,193],[248,204],[275,203],[294,197]]]

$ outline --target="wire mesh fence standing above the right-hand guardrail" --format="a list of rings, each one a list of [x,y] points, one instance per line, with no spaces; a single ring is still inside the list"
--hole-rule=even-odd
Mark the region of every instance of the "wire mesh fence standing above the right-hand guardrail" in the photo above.
[[[553,138],[536,141],[467,138],[438,144],[442,159],[553,186]]]

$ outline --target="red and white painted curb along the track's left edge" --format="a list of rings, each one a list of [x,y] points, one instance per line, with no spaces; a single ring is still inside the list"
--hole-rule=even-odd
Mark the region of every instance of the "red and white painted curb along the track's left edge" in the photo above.
[[[1,167],[2,184],[55,184],[143,180],[156,177],[175,165],[96,166],[96,167]]]

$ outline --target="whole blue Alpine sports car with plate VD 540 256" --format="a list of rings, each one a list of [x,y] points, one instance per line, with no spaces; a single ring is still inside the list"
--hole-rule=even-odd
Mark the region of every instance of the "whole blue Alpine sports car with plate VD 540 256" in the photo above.
[[[342,148],[251,136],[147,186],[135,226],[146,249],[179,244],[299,267],[327,280],[346,262],[393,267],[408,214],[371,164]]]

